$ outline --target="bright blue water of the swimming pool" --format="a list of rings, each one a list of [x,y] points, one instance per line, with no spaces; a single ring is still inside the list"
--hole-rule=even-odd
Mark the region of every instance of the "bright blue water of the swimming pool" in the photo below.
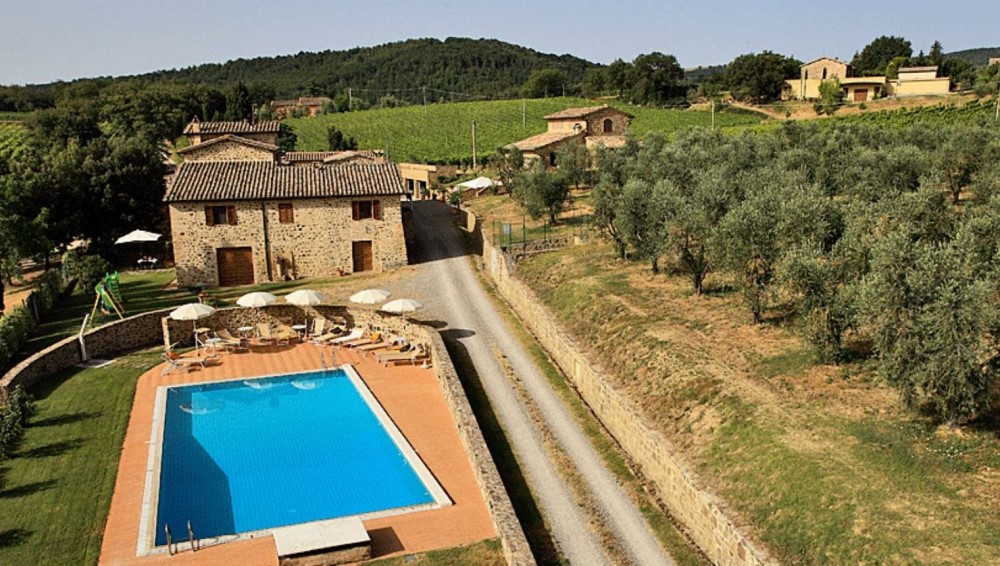
[[[343,370],[167,390],[157,545],[433,501]]]

